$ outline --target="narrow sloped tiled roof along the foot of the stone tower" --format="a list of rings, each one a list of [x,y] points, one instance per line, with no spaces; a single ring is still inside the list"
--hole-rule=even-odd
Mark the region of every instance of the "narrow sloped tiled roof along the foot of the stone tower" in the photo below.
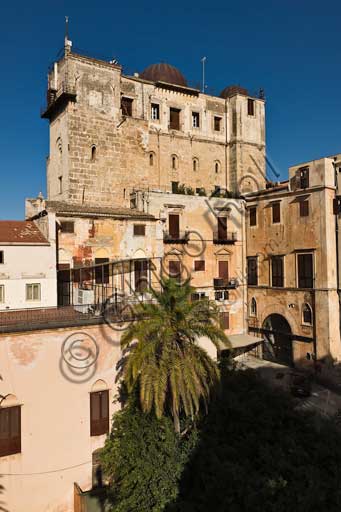
[[[140,212],[131,208],[124,207],[102,207],[102,206],[85,206],[78,204],[70,204],[64,201],[46,201],[45,207],[47,211],[54,211],[62,215],[95,215],[100,217],[116,217],[116,218],[140,218],[140,219],[155,219],[154,215],[149,213]]]

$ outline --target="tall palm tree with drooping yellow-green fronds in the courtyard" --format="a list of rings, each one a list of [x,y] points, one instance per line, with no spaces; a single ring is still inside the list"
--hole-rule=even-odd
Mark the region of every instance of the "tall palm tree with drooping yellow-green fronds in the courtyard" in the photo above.
[[[198,338],[206,336],[217,350],[228,343],[217,324],[218,309],[208,300],[191,301],[189,281],[162,281],[162,291],[151,290],[154,303],[140,304],[137,321],[121,338],[129,349],[123,365],[128,392],[138,387],[144,412],[158,418],[170,413],[180,432],[180,415],[193,418],[219,380],[217,364]]]

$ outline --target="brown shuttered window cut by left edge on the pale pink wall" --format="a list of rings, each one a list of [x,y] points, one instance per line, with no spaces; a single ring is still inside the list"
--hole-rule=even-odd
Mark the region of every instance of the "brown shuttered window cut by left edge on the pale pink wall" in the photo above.
[[[0,457],[21,452],[21,408],[0,409]]]

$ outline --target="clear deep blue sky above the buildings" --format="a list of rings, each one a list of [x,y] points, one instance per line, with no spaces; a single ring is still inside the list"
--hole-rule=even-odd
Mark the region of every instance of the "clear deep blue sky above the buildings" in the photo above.
[[[341,152],[339,1],[13,0],[0,19],[2,219],[23,218],[24,198],[45,194],[40,108],[65,15],[75,48],[117,58],[126,72],[166,61],[195,83],[206,56],[209,90],[264,88],[267,151],[281,178],[289,165]]]

